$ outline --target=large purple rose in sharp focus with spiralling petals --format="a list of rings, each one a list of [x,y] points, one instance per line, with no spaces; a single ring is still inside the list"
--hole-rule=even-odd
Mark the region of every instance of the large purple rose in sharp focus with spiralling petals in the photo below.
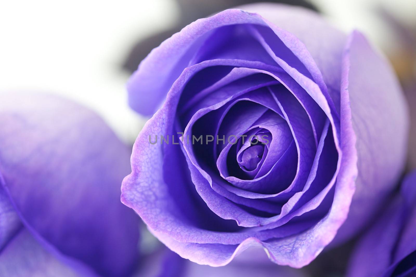
[[[198,20],[131,77],[130,105],[148,115],[161,108],[136,140],[122,201],[194,262],[225,265],[261,244],[274,262],[301,267],[334,238],[354,189],[338,241],[393,188],[406,107],[389,65],[358,32],[347,37],[301,8],[242,9],[266,19],[227,10]],[[274,140],[267,149],[148,142],[176,132]]]

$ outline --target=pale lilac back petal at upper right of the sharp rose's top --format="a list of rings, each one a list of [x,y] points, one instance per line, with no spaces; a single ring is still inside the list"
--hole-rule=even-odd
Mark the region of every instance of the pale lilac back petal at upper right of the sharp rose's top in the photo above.
[[[310,67],[316,64],[339,113],[342,51],[347,36],[330,25],[322,15],[303,7],[258,3],[238,8],[258,13],[277,27],[294,34],[305,44],[313,58],[313,61],[307,63]],[[312,74],[317,75],[318,72]]]

